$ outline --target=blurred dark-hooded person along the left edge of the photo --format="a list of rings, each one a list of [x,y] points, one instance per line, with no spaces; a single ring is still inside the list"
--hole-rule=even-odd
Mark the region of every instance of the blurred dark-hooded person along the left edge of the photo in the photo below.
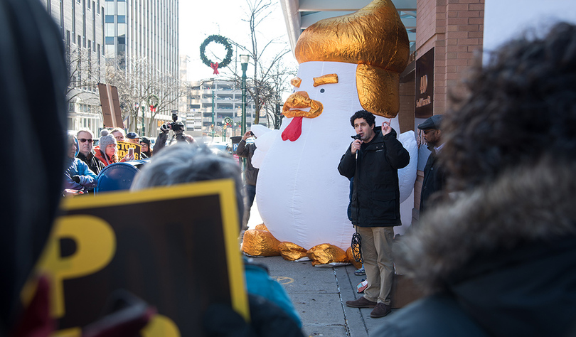
[[[26,309],[20,298],[57,213],[68,145],[62,36],[40,1],[0,0],[0,74],[2,121],[27,131],[2,140],[0,336],[48,336],[48,279]]]

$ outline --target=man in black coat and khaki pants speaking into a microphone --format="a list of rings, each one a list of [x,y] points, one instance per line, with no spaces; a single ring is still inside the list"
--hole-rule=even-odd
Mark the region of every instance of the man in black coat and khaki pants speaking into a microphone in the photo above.
[[[361,236],[363,267],[368,288],[364,296],[346,301],[353,308],[374,308],[370,317],[390,313],[390,291],[394,275],[393,226],[400,222],[398,169],[407,166],[410,154],[396,139],[390,122],[375,129],[375,117],[366,110],[350,118],[360,139],[355,139],[340,159],[338,171],[354,178],[350,204],[352,224]]]

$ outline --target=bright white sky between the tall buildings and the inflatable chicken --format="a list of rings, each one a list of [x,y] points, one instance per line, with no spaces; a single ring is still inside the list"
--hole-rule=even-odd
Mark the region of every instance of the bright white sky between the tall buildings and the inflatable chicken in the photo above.
[[[179,48],[180,55],[188,55],[189,57],[188,80],[201,80],[214,76],[213,70],[207,65],[204,65],[200,60],[200,45],[208,36],[213,34],[224,36],[241,46],[245,46],[246,48],[250,47],[250,27],[247,21],[242,21],[242,18],[248,18],[246,1],[247,0],[180,1]],[[272,0],[272,3],[272,14],[265,18],[257,28],[257,36],[262,41],[260,46],[263,46],[264,42],[270,41],[273,38],[279,38],[279,41],[285,43],[289,48],[282,8],[277,0]],[[275,50],[279,50],[282,43],[274,46]],[[233,49],[235,53],[228,68],[235,67],[234,58],[236,50],[238,49],[238,55],[242,54],[240,48],[233,46]],[[206,57],[209,60],[215,60],[216,56],[224,58],[226,54],[225,48],[218,43],[210,43],[206,50]],[[212,55],[208,55],[209,52],[212,52]],[[274,54],[274,49],[271,48],[270,53],[266,52],[264,56],[270,55],[270,57],[272,57]],[[294,63],[294,68],[296,68],[297,63],[293,60],[292,53],[289,53],[287,56],[287,58]],[[238,68],[240,68],[239,60]],[[230,72],[230,70],[226,68],[219,68],[218,71],[220,71],[220,77],[225,77],[226,73]],[[250,74],[253,71],[253,68],[249,66],[247,73]]]

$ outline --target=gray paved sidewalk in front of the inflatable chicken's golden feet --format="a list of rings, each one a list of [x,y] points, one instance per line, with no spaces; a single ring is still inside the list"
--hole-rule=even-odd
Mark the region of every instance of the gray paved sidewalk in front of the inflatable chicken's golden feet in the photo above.
[[[262,223],[256,205],[252,207],[249,228]],[[358,299],[356,284],[366,276],[356,276],[353,265],[313,267],[311,262],[289,262],[282,257],[255,257],[270,276],[284,286],[302,318],[306,336],[370,336],[392,313],[380,319],[370,317],[371,308],[356,309],[346,301]]]

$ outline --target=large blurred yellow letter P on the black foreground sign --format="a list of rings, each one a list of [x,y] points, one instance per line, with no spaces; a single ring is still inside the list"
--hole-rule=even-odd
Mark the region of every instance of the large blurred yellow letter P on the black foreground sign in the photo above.
[[[75,242],[73,255],[62,257],[60,239]],[[65,314],[63,280],[82,277],[107,266],[116,252],[116,236],[112,227],[92,215],[70,215],[56,219],[54,230],[38,268],[53,278],[50,289],[51,314],[60,318]]]

